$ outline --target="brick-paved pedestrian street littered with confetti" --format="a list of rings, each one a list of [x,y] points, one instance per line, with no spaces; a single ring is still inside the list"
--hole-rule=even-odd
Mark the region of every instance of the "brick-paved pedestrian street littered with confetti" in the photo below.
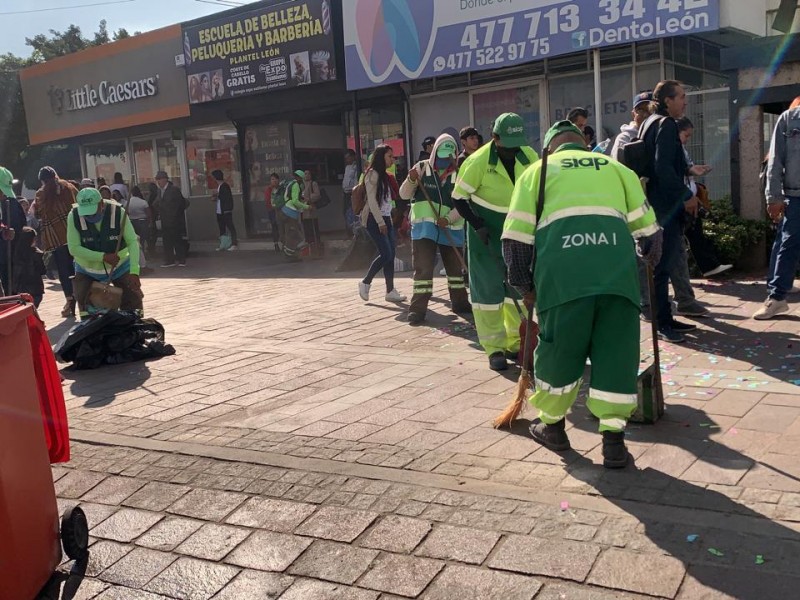
[[[364,305],[357,274],[263,256],[144,281],[176,356],[65,372],[76,445],[57,490],[88,503],[98,540],[76,597],[778,598],[800,583],[799,319],[749,320],[763,286],[698,287],[714,318],[662,345],[667,419],[632,426],[636,465],[612,473],[583,407],[565,456],[524,421],[493,430],[517,372],[489,371],[441,302],[412,328],[382,294]],[[43,305],[52,337],[59,304]]]

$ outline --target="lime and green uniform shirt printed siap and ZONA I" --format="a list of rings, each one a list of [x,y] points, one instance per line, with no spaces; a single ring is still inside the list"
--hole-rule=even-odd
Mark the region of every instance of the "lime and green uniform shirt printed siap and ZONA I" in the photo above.
[[[557,152],[548,160],[537,226],[541,166],[537,162],[517,179],[502,236],[536,245],[537,309],[599,294],[624,296],[638,305],[633,238],[658,232],[638,176],[597,153]]]

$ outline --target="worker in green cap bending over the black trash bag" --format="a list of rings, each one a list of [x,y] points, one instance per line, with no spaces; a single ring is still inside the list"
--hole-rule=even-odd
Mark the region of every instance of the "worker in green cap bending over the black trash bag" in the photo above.
[[[120,308],[141,316],[144,294],[139,281],[139,240],[130,219],[125,219],[123,229],[124,214],[119,204],[106,202],[99,191],[86,188],[78,192],[77,204],[67,219],[69,250],[75,257],[75,299],[82,319],[91,312],[92,282],[109,279],[122,289]]]

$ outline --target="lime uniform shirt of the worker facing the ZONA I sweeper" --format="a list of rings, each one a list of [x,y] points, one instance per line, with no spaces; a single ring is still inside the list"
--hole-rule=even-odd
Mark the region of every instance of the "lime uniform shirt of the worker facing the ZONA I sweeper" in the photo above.
[[[519,181],[525,169],[537,160],[539,155],[533,148],[520,148],[514,165],[515,181]],[[491,142],[470,154],[461,165],[453,198],[472,200],[478,206],[505,214],[513,192],[514,184],[497,156],[497,147]]]

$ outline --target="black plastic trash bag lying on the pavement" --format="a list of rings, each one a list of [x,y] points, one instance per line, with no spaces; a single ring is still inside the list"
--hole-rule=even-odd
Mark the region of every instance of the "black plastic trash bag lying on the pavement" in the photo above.
[[[164,327],[133,311],[110,311],[90,316],[73,326],[56,344],[59,362],[75,369],[172,356],[175,348],[164,342]]]

